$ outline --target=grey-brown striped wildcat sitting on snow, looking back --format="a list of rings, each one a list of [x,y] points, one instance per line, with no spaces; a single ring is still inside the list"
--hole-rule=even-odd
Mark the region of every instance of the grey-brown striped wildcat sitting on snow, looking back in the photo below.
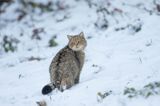
[[[44,95],[55,88],[63,91],[79,83],[85,57],[83,50],[87,46],[87,42],[83,32],[67,37],[68,45],[61,49],[51,62],[49,68],[51,83],[43,87],[42,94]]]

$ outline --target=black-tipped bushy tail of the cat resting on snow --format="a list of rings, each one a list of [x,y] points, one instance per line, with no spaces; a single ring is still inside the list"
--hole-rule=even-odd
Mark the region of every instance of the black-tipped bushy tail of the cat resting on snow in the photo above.
[[[47,84],[42,88],[42,94],[46,95],[50,92],[52,92],[52,90],[54,90],[56,88],[56,86],[53,83]]]

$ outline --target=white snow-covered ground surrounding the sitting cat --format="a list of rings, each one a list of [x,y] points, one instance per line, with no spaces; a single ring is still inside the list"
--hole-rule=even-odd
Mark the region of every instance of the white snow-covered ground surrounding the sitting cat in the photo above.
[[[158,106],[160,87],[149,97],[124,94],[126,88],[143,91],[145,85],[160,81],[160,10],[153,0],[60,4],[65,9],[42,15],[37,10],[14,21],[19,15],[15,10],[21,8],[15,0],[0,14],[0,105],[36,106],[36,101],[45,100],[48,106]],[[34,36],[37,29],[42,29],[40,40]],[[81,31],[88,45],[80,83],[63,93],[42,95],[51,60],[67,44],[66,35]],[[18,40],[15,52],[4,52],[4,36]],[[53,36],[58,46],[49,47]]]

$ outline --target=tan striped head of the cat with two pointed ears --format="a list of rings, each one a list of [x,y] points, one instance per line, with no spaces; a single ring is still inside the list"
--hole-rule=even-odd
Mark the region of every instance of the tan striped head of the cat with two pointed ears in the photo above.
[[[69,39],[69,48],[71,48],[74,51],[81,51],[84,50],[84,48],[87,46],[86,39],[84,38],[83,32],[81,32],[79,35],[67,36]]]

